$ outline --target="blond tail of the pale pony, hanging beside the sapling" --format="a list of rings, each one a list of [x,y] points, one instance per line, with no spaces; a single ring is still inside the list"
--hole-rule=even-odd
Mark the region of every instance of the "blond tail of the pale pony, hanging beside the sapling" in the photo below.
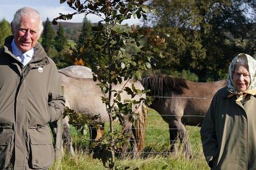
[[[146,138],[146,121],[147,121],[147,107],[145,104],[140,105],[135,113],[137,113],[137,120],[135,121],[135,138],[137,142],[138,151],[144,147]]]

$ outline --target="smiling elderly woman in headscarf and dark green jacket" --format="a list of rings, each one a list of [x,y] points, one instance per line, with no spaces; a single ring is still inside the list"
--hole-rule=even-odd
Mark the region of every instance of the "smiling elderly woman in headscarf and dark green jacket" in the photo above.
[[[238,54],[228,86],[216,92],[201,127],[205,158],[213,169],[256,169],[256,61]]]

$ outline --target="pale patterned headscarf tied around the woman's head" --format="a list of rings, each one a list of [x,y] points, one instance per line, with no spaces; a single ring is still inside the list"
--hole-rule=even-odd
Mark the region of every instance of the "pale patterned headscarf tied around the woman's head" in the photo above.
[[[234,65],[237,61],[238,57],[246,57],[248,61],[248,67],[249,67],[249,73],[250,73],[250,85],[249,87],[243,91],[243,92],[238,92],[234,88],[233,84],[233,74],[234,74]],[[237,95],[237,100],[236,101],[241,101],[244,99],[245,95],[243,94],[250,94],[250,95],[255,95],[256,94],[256,61],[253,57],[251,57],[248,54],[240,53],[234,59],[229,65],[229,74],[228,74],[228,91],[233,95]]]

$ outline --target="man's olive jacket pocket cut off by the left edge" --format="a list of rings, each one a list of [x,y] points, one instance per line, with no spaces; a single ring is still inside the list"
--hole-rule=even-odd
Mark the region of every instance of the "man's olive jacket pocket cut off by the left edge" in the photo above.
[[[1,129],[0,131],[0,169],[8,167],[11,160],[11,153],[13,152],[13,130]]]

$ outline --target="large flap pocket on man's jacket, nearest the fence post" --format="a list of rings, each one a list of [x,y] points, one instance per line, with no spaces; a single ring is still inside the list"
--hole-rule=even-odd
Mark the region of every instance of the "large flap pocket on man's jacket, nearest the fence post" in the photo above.
[[[34,169],[48,168],[54,163],[54,148],[48,126],[30,129],[30,166]]]

